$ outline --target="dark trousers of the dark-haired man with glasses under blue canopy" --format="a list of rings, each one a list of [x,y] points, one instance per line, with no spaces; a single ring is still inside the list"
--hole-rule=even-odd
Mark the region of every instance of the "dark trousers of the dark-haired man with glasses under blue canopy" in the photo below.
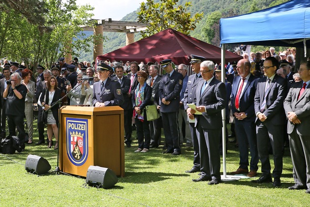
[[[263,175],[269,175],[271,171],[269,161],[269,144],[271,144],[274,155],[275,169],[274,178],[280,178],[283,169],[283,126],[272,125],[270,122],[257,121],[256,125],[257,149],[260,162],[262,163]]]

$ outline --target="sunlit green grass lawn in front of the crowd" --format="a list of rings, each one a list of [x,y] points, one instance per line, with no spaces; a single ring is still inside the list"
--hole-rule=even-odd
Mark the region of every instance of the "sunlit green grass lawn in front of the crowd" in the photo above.
[[[34,142],[37,141],[35,134]],[[229,143],[227,172],[239,167],[238,150],[233,145]],[[199,177],[197,173],[185,173],[192,167],[192,148],[184,147],[180,156],[162,154],[161,148],[151,149],[148,153],[134,153],[136,148],[136,139],[131,148],[125,147],[125,177],[120,177],[111,189],[89,187],[84,177],[27,173],[25,161],[29,154],[44,157],[52,170],[55,169],[57,150],[48,149],[46,145],[31,144],[26,145],[26,151],[22,153],[0,154],[0,206],[306,207],[310,204],[310,195],[305,190],[287,189],[294,184],[288,148],[285,148],[282,185],[279,188],[274,188],[272,183],[250,182],[257,177],[212,186],[208,182],[195,183],[192,179]],[[260,176],[260,168],[258,172]]]

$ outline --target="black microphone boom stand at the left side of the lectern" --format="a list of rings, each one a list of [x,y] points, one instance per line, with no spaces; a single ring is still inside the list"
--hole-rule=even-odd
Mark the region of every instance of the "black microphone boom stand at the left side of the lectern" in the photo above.
[[[76,85],[71,91],[69,91],[69,93],[67,93],[66,95],[64,95],[60,100],[58,100],[57,102],[55,102],[55,104],[51,105],[51,107],[49,109],[47,109],[45,112],[48,112],[51,108],[53,107],[56,107],[56,105],[58,105],[59,109],[58,109],[58,149],[57,149],[57,166],[55,168],[54,171],[52,172],[49,172],[49,173],[44,173],[44,174],[40,174],[38,176],[41,176],[41,175],[47,175],[47,174],[52,174],[52,173],[57,173],[57,174],[66,174],[66,175],[70,175],[70,176],[73,176],[71,174],[68,174],[68,173],[64,173],[61,171],[60,167],[59,167],[59,148],[61,146],[61,135],[60,135],[60,126],[61,126],[61,107],[62,107],[62,100],[67,97],[74,89],[76,89],[77,87],[79,87],[82,83],[84,83],[84,80],[79,83],[78,85]],[[65,107],[65,106],[64,106]]]

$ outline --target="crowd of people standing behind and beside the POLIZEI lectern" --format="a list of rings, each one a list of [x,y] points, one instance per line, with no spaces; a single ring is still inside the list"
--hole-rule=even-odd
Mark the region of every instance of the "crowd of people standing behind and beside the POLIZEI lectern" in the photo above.
[[[48,147],[58,149],[59,107],[51,106],[65,94],[68,94],[67,100],[62,104],[119,105],[124,109],[124,143],[127,147],[131,147],[132,130],[135,129],[136,153],[146,153],[162,144],[163,154],[180,155],[184,144],[193,147],[193,167],[186,173],[199,172],[200,177],[193,179],[194,182],[209,181],[208,184],[213,185],[221,181],[222,127],[226,128],[226,144],[228,141],[228,130],[222,125],[221,115],[221,110],[225,109],[226,124],[231,122],[240,152],[240,166],[231,174],[254,177],[260,160],[262,175],[252,182],[272,182],[273,186],[280,186],[283,150],[287,143],[295,180],[295,185],[289,189],[307,189],[310,193],[307,134],[310,62],[301,63],[296,69],[293,49],[279,53],[279,57],[275,48],[264,53],[245,53],[243,59],[225,67],[198,55],[191,55],[190,67],[175,66],[170,59],[160,61],[159,65],[106,60],[93,63],[91,67],[90,62],[78,63],[74,59],[67,64],[60,58],[51,69],[38,65],[34,81],[31,70],[18,63],[6,63],[0,80],[3,94],[1,136],[5,137],[7,120],[9,135],[15,135],[17,128],[19,138],[24,139],[23,119],[26,115],[31,134],[27,143],[32,143],[30,105],[36,100],[39,111],[39,141],[36,144],[45,143],[44,124],[47,124]],[[164,74],[160,74],[160,68]],[[222,69],[225,80],[221,79]],[[148,121],[148,105],[156,105],[160,114],[158,119]],[[164,142],[161,141],[161,128]],[[273,172],[270,152],[274,159]]]

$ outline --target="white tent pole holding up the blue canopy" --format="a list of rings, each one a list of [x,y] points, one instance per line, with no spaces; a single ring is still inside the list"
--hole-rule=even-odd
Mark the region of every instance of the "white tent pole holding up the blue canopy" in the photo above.
[[[221,45],[221,80],[225,83],[225,44]],[[228,101],[228,100],[226,100]],[[223,175],[226,178],[226,132],[225,132],[225,108],[222,109],[222,149],[223,149]]]

